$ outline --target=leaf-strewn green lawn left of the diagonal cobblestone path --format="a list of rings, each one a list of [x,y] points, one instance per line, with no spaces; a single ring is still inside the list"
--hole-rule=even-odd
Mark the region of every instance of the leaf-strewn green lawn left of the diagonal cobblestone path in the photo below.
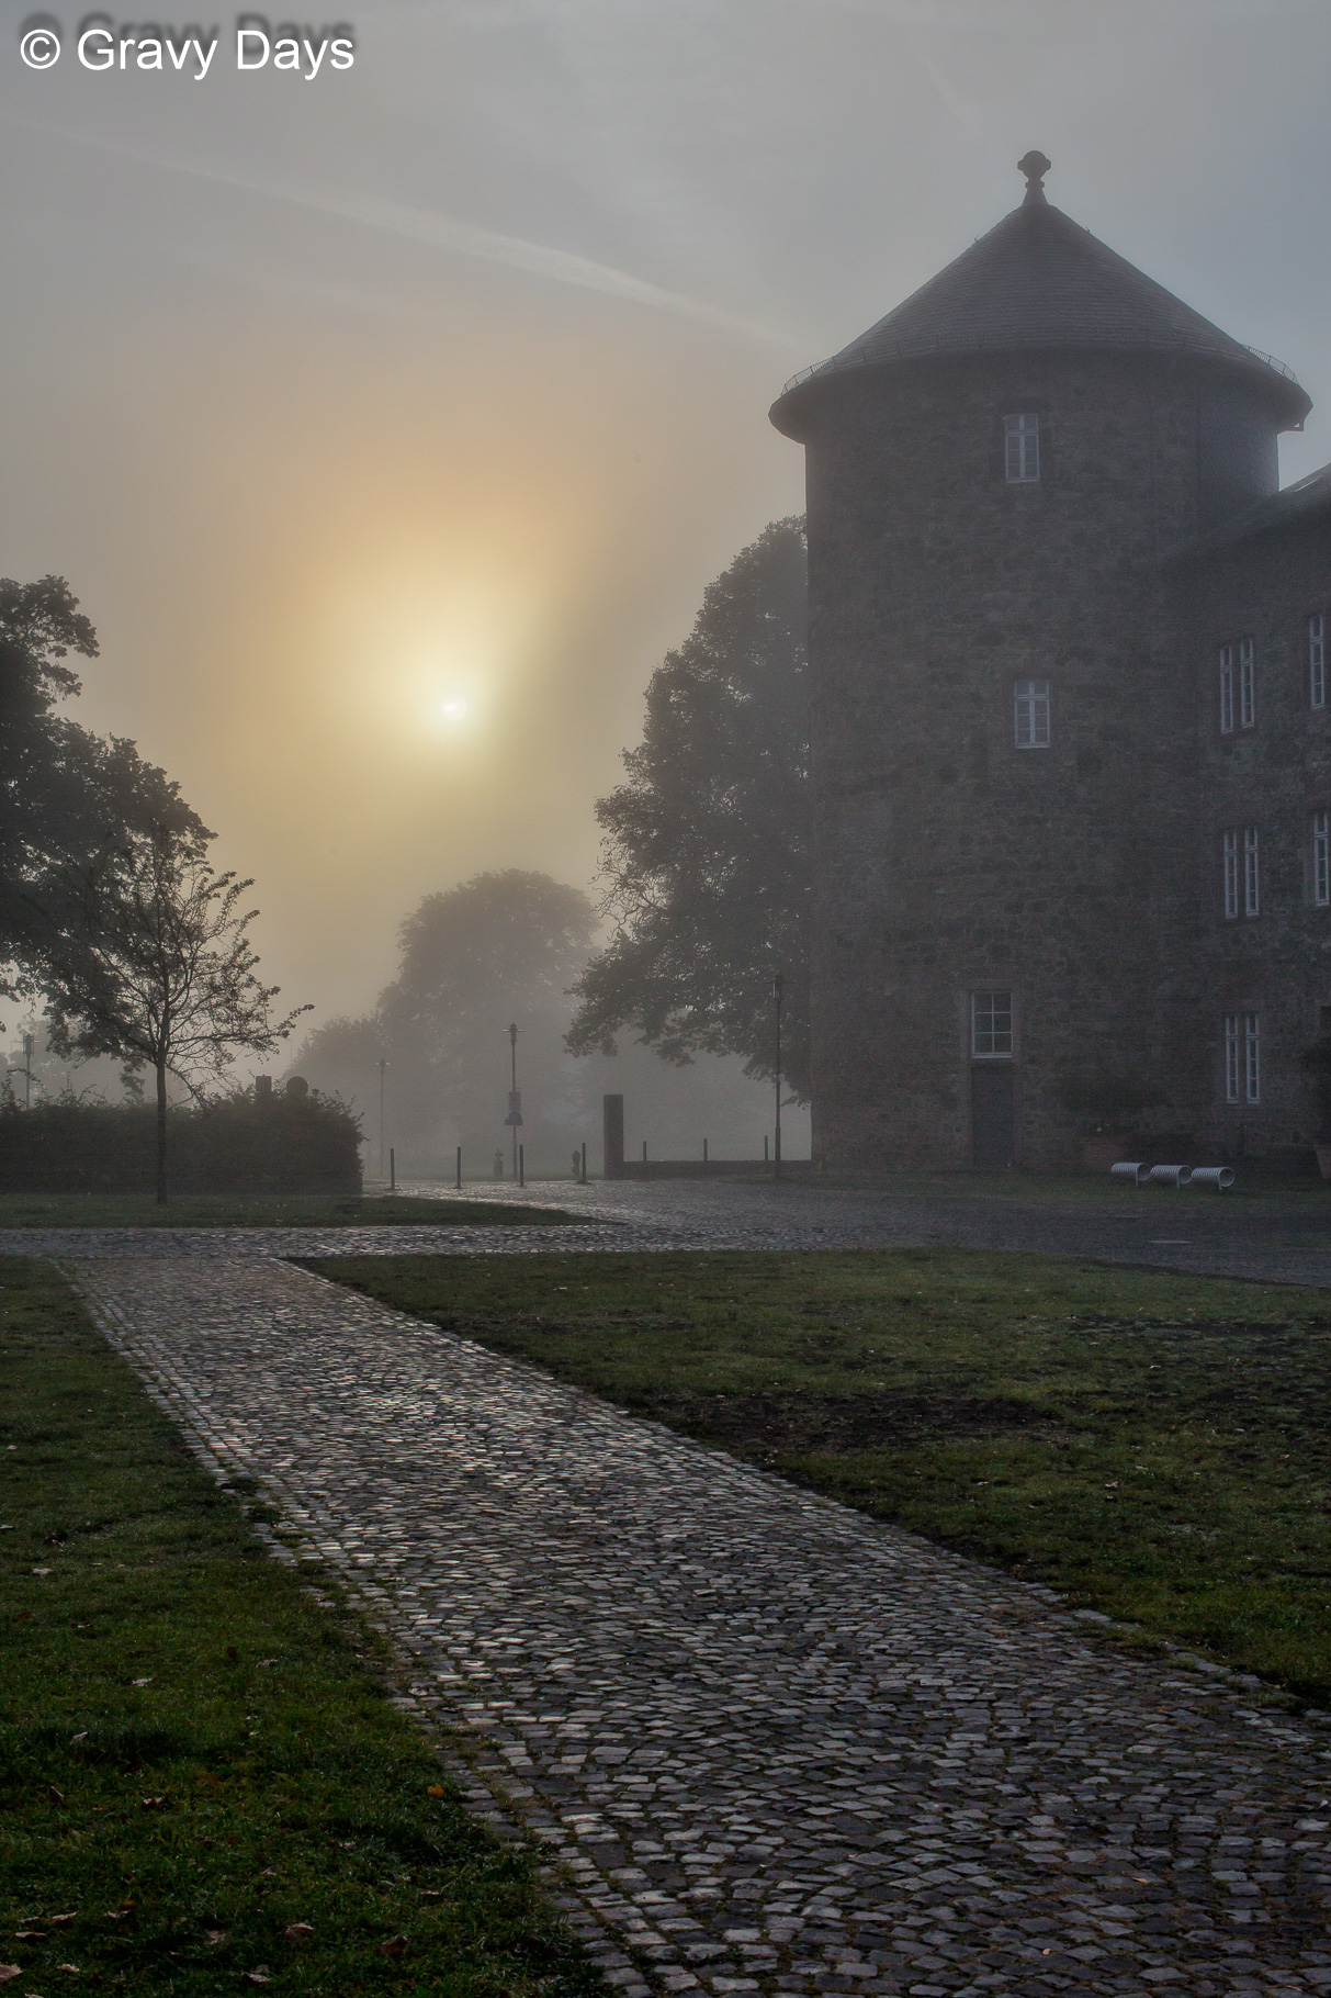
[[[54,1271],[4,1259],[0,1285],[18,1998],[604,1990],[390,1704],[376,1640],[260,1550]]]

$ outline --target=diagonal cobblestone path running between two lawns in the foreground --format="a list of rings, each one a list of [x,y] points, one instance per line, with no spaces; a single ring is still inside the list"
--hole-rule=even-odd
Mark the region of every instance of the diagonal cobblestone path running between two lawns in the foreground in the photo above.
[[[1311,1724],[290,1265],[66,1267],[626,1992],[1331,1986]]]

